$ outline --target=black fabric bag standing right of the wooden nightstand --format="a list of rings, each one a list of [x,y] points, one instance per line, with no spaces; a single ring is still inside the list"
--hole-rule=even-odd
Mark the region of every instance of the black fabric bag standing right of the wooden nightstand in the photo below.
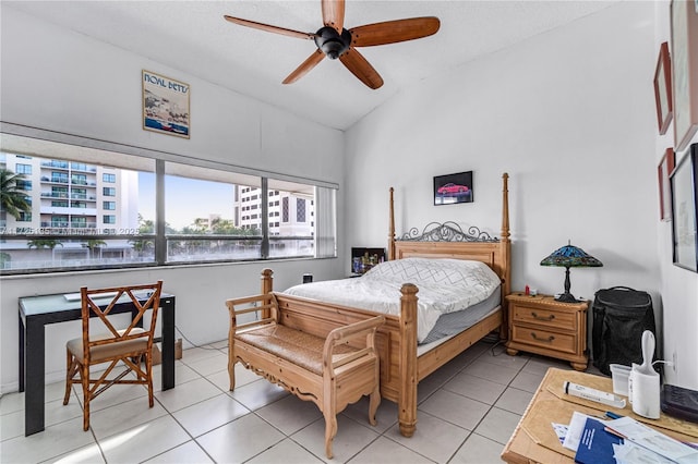
[[[611,364],[642,364],[642,332],[655,332],[650,294],[627,286],[599,290],[592,310],[593,365],[610,376]]]

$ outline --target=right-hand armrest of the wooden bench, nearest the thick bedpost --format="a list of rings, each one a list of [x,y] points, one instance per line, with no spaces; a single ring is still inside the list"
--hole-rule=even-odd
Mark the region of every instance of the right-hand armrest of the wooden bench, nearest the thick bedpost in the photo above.
[[[323,364],[325,368],[329,368],[330,374],[334,369],[347,365],[356,359],[365,356],[376,356],[375,354],[375,331],[385,322],[384,316],[372,317],[371,319],[361,320],[334,329],[327,334],[325,345],[323,347]],[[365,347],[348,355],[338,356],[333,359],[334,347],[348,342],[351,339],[365,337]]]

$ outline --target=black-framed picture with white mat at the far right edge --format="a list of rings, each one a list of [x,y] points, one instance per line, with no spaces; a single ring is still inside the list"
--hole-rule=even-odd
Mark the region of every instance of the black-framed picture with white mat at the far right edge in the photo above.
[[[698,272],[698,144],[693,144],[671,175],[672,242],[675,266]]]

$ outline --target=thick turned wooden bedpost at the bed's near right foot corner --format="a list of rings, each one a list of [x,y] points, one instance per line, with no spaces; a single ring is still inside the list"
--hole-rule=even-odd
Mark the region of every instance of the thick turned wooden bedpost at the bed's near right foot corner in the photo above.
[[[400,434],[411,437],[417,428],[417,285],[406,283],[400,289],[400,389],[398,420]]]

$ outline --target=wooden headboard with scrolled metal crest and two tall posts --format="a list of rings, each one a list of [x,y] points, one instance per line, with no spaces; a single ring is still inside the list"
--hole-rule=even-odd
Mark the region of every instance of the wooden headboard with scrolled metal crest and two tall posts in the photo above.
[[[417,229],[395,237],[395,209],[390,187],[390,222],[388,259],[408,257],[472,259],[486,264],[502,280],[502,305],[510,292],[512,242],[509,240],[509,174],[502,174],[502,233],[498,239],[471,227],[468,233],[454,222],[428,224],[422,233]],[[503,331],[506,333],[506,312]]]

